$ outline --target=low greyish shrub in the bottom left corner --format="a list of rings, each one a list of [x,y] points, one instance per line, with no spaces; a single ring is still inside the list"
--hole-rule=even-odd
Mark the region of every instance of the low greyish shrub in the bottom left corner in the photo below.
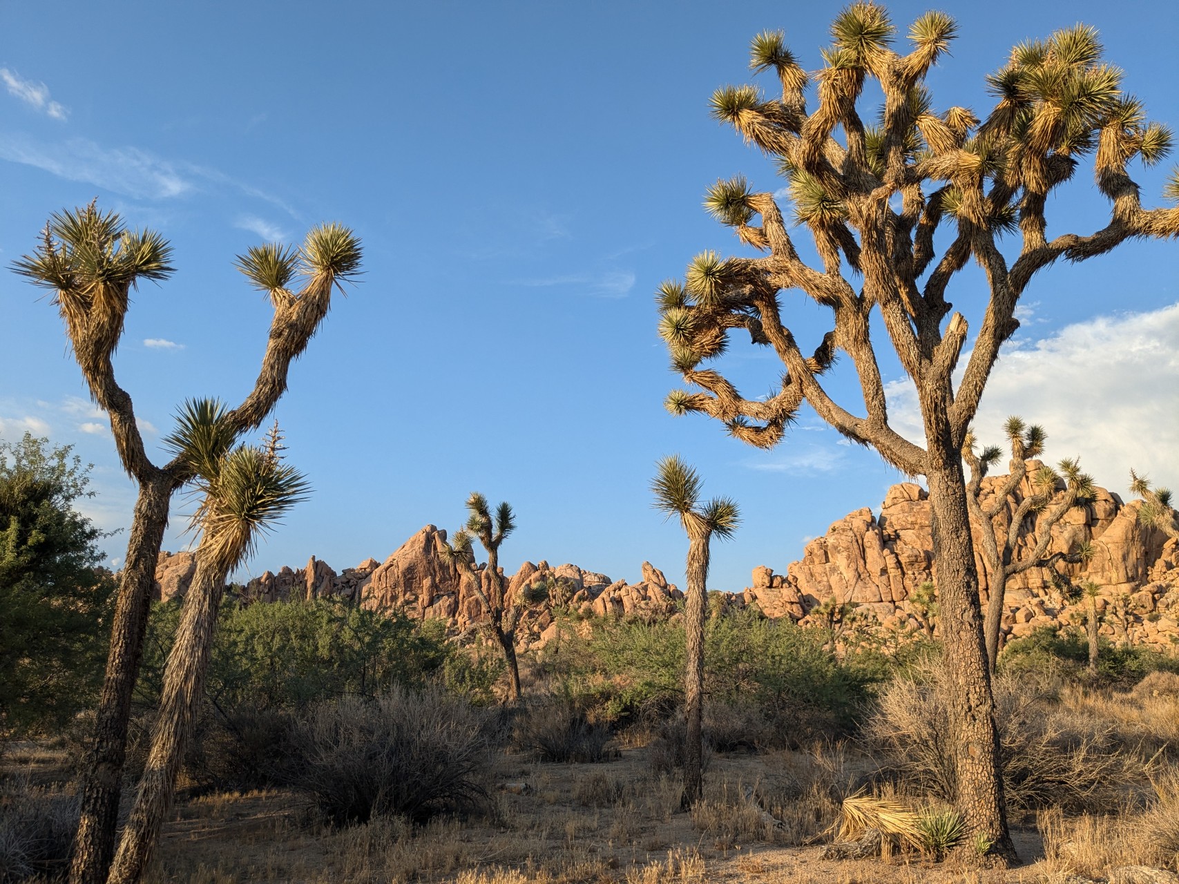
[[[70,862],[78,799],[31,789],[15,778],[0,787],[0,884],[53,876]]]

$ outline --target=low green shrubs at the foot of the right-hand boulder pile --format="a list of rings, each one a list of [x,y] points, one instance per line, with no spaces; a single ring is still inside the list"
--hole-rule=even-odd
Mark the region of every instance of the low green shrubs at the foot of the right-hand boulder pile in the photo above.
[[[999,655],[1002,673],[1042,680],[1046,675],[1066,680],[1088,675],[1088,639],[1076,629],[1040,626],[1022,639],[1009,641]],[[1140,645],[1115,646],[1102,635],[1098,644],[1096,677],[1106,684],[1133,684],[1152,672],[1179,673],[1179,658]]]

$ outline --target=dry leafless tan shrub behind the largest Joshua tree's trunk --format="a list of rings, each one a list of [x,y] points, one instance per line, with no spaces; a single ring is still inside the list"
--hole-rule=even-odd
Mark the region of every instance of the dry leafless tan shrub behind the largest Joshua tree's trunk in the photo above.
[[[904,785],[954,803],[957,794],[954,687],[944,667],[931,661],[918,679],[896,679],[882,693],[865,726],[884,752],[887,768]],[[1086,807],[1108,796],[1126,764],[1111,740],[1112,728],[1053,714],[1048,701],[1010,678],[993,681],[995,718],[1003,759],[1003,787],[1014,809],[1048,805]]]

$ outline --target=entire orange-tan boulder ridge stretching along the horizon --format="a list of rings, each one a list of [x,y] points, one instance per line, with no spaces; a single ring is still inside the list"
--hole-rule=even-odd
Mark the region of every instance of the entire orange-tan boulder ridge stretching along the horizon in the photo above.
[[[1039,462],[1029,461],[1028,476],[1034,476],[1039,467]],[[983,480],[983,494],[993,494],[1002,479]],[[1029,493],[1026,480],[995,517],[996,527],[1006,533],[1019,501]],[[1091,542],[1095,555],[1087,566],[1058,562],[1055,567],[1075,582],[1089,579],[1102,587],[1102,631],[1118,640],[1171,647],[1179,642],[1179,546],[1161,532],[1140,525],[1139,508],[1139,501],[1124,503],[1098,488],[1088,503],[1071,510],[1053,528],[1049,553],[1067,553],[1079,542]],[[1029,520],[1020,535],[1016,556],[1029,547],[1033,527]],[[284,567],[255,578],[242,595],[249,601],[341,596],[367,608],[400,608],[413,618],[441,618],[453,632],[466,632],[486,612],[470,579],[442,555],[444,540],[446,532],[427,525],[384,562],[368,559],[337,574],[327,562],[311,556],[303,568]],[[816,606],[834,599],[838,605],[855,605],[862,622],[915,632],[920,620],[909,599],[922,582],[936,583],[931,546],[926,492],[908,482],[896,484],[888,490],[878,516],[868,508],[844,516],[825,535],[810,541],[802,560],[791,562],[785,574],[775,574],[764,566],[755,568],[752,586],[729,599],[729,605],[756,605],[766,616],[805,622]],[[979,569],[986,602],[981,556]],[[183,595],[195,570],[191,553],[162,553],[156,573],[158,598]],[[627,583],[575,565],[525,562],[506,578],[509,599],[528,592],[518,631],[520,649],[542,647],[556,634],[554,605],[587,616],[673,615],[683,593],[650,562],[643,563],[641,575],[639,582]],[[1079,601],[1068,602],[1046,567],[1033,567],[1012,578],[1007,602],[1007,636],[1026,635],[1041,625],[1076,622],[1082,607]]]

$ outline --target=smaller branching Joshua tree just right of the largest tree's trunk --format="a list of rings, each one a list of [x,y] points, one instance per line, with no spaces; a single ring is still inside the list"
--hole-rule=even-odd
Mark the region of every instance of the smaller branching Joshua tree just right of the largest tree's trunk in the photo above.
[[[1007,581],[1016,574],[1022,574],[1035,565],[1043,565],[1045,553],[1048,552],[1048,543],[1052,541],[1052,529],[1065,517],[1065,514],[1073,507],[1089,500],[1093,496],[1093,479],[1085,473],[1076,460],[1063,460],[1060,462],[1060,473],[1066,480],[1065,493],[1052,509],[1048,504],[1056,496],[1056,483],[1060,476],[1050,467],[1041,467],[1032,477],[1033,494],[1023,497],[1012,514],[1007,534],[999,535],[995,529],[995,516],[1007,506],[1020,482],[1027,476],[1027,461],[1038,457],[1043,451],[1045,431],[1033,424],[1025,425],[1020,417],[1008,417],[1003,424],[1003,433],[1012,447],[1012,461],[1008,466],[1008,476],[995,490],[994,497],[988,506],[982,504],[982,480],[987,475],[987,469],[996,463],[1002,456],[1002,451],[990,446],[981,454],[974,450],[974,434],[968,433],[966,444],[962,448],[962,457],[970,467],[970,482],[967,484],[967,504],[970,507],[970,515],[974,516],[979,528],[982,545],[982,555],[987,565],[987,581],[989,586],[989,599],[987,601],[987,615],[983,621],[983,636],[987,642],[987,661],[992,672],[995,669],[995,659],[999,657],[999,631],[1002,627],[1005,596],[1007,595]],[[1033,523],[1034,534],[1028,543],[1028,550],[1022,558],[1015,558],[1015,547],[1020,540],[1020,532],[1028,516],[1040,515]]]

